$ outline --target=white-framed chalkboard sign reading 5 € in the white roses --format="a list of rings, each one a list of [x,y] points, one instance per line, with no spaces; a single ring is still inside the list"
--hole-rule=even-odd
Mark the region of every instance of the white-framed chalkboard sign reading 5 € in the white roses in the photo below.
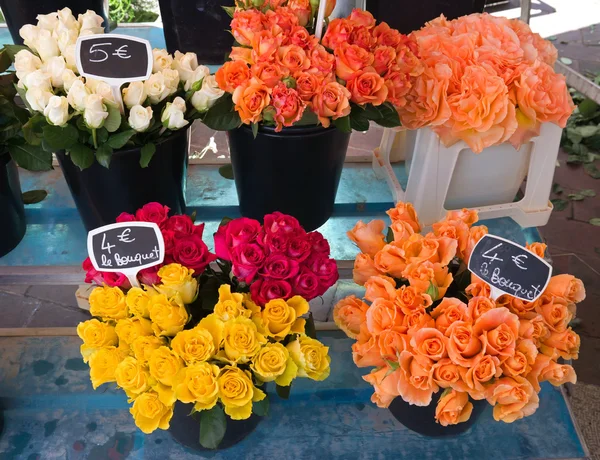
[[[152,75],[152,47],[148,40],[119,34],[84,35],[75,48],[77,70],[84,77],[111,86]]]

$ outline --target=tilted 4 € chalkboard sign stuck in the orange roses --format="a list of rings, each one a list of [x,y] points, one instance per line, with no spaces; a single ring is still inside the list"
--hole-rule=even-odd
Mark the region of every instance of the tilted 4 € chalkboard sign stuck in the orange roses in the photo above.
[[[548,285],[552,266],[523,246],[485,235],[471,254],[469,270],[492,288],[492,297],[509,294],[533,302]]]

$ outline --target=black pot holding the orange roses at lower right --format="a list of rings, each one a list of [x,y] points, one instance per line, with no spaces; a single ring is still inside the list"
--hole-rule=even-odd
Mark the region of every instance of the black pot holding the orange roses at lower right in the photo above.
[[[471,428],[477,419],[481,416],[485,407],[488,405],[485,399],[481,401],[474,401],[473,412],[469,420],[457,425],[442,426],[435,421],[435,409],[437,403],[442,396],[443,390],[438,391],[433,395],[431,404],[429,406],[414,406],[405,402],[400,396],[395,398],[390,404],[390,412],[396,420],[402,425],[415,433],[422,434],[430,437],[442,437],[442,436],[455,436],[460,433],[464,433]]]

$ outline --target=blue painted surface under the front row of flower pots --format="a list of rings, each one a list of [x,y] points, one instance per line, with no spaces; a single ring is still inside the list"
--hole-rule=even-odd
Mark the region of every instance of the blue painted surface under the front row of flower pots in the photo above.
[[[582,458],[584,448],[562,393],[543,385],[540,408],[513,424],[492,419],[491,406],[468,432],[444,439],[408,431],[370,402],[368,372],[352,363],[352,341],[322,333],[331,376],[298,379],[292,397],[271,394],[271,413],[237,446],[194,454],[168,432],[145,436],[125,396],[93,391],[77,337],[0,338],[0,459],[525,459]]]

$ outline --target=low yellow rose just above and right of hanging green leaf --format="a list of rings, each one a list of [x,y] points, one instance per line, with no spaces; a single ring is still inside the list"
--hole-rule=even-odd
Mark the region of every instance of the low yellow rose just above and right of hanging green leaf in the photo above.
[[[266,394],[252,383],[252,375],[235,366],[221,369],[218,379],[219,397],[225,413],[233,420],[245,420],[252,415],[252,403],[262,401]]]

